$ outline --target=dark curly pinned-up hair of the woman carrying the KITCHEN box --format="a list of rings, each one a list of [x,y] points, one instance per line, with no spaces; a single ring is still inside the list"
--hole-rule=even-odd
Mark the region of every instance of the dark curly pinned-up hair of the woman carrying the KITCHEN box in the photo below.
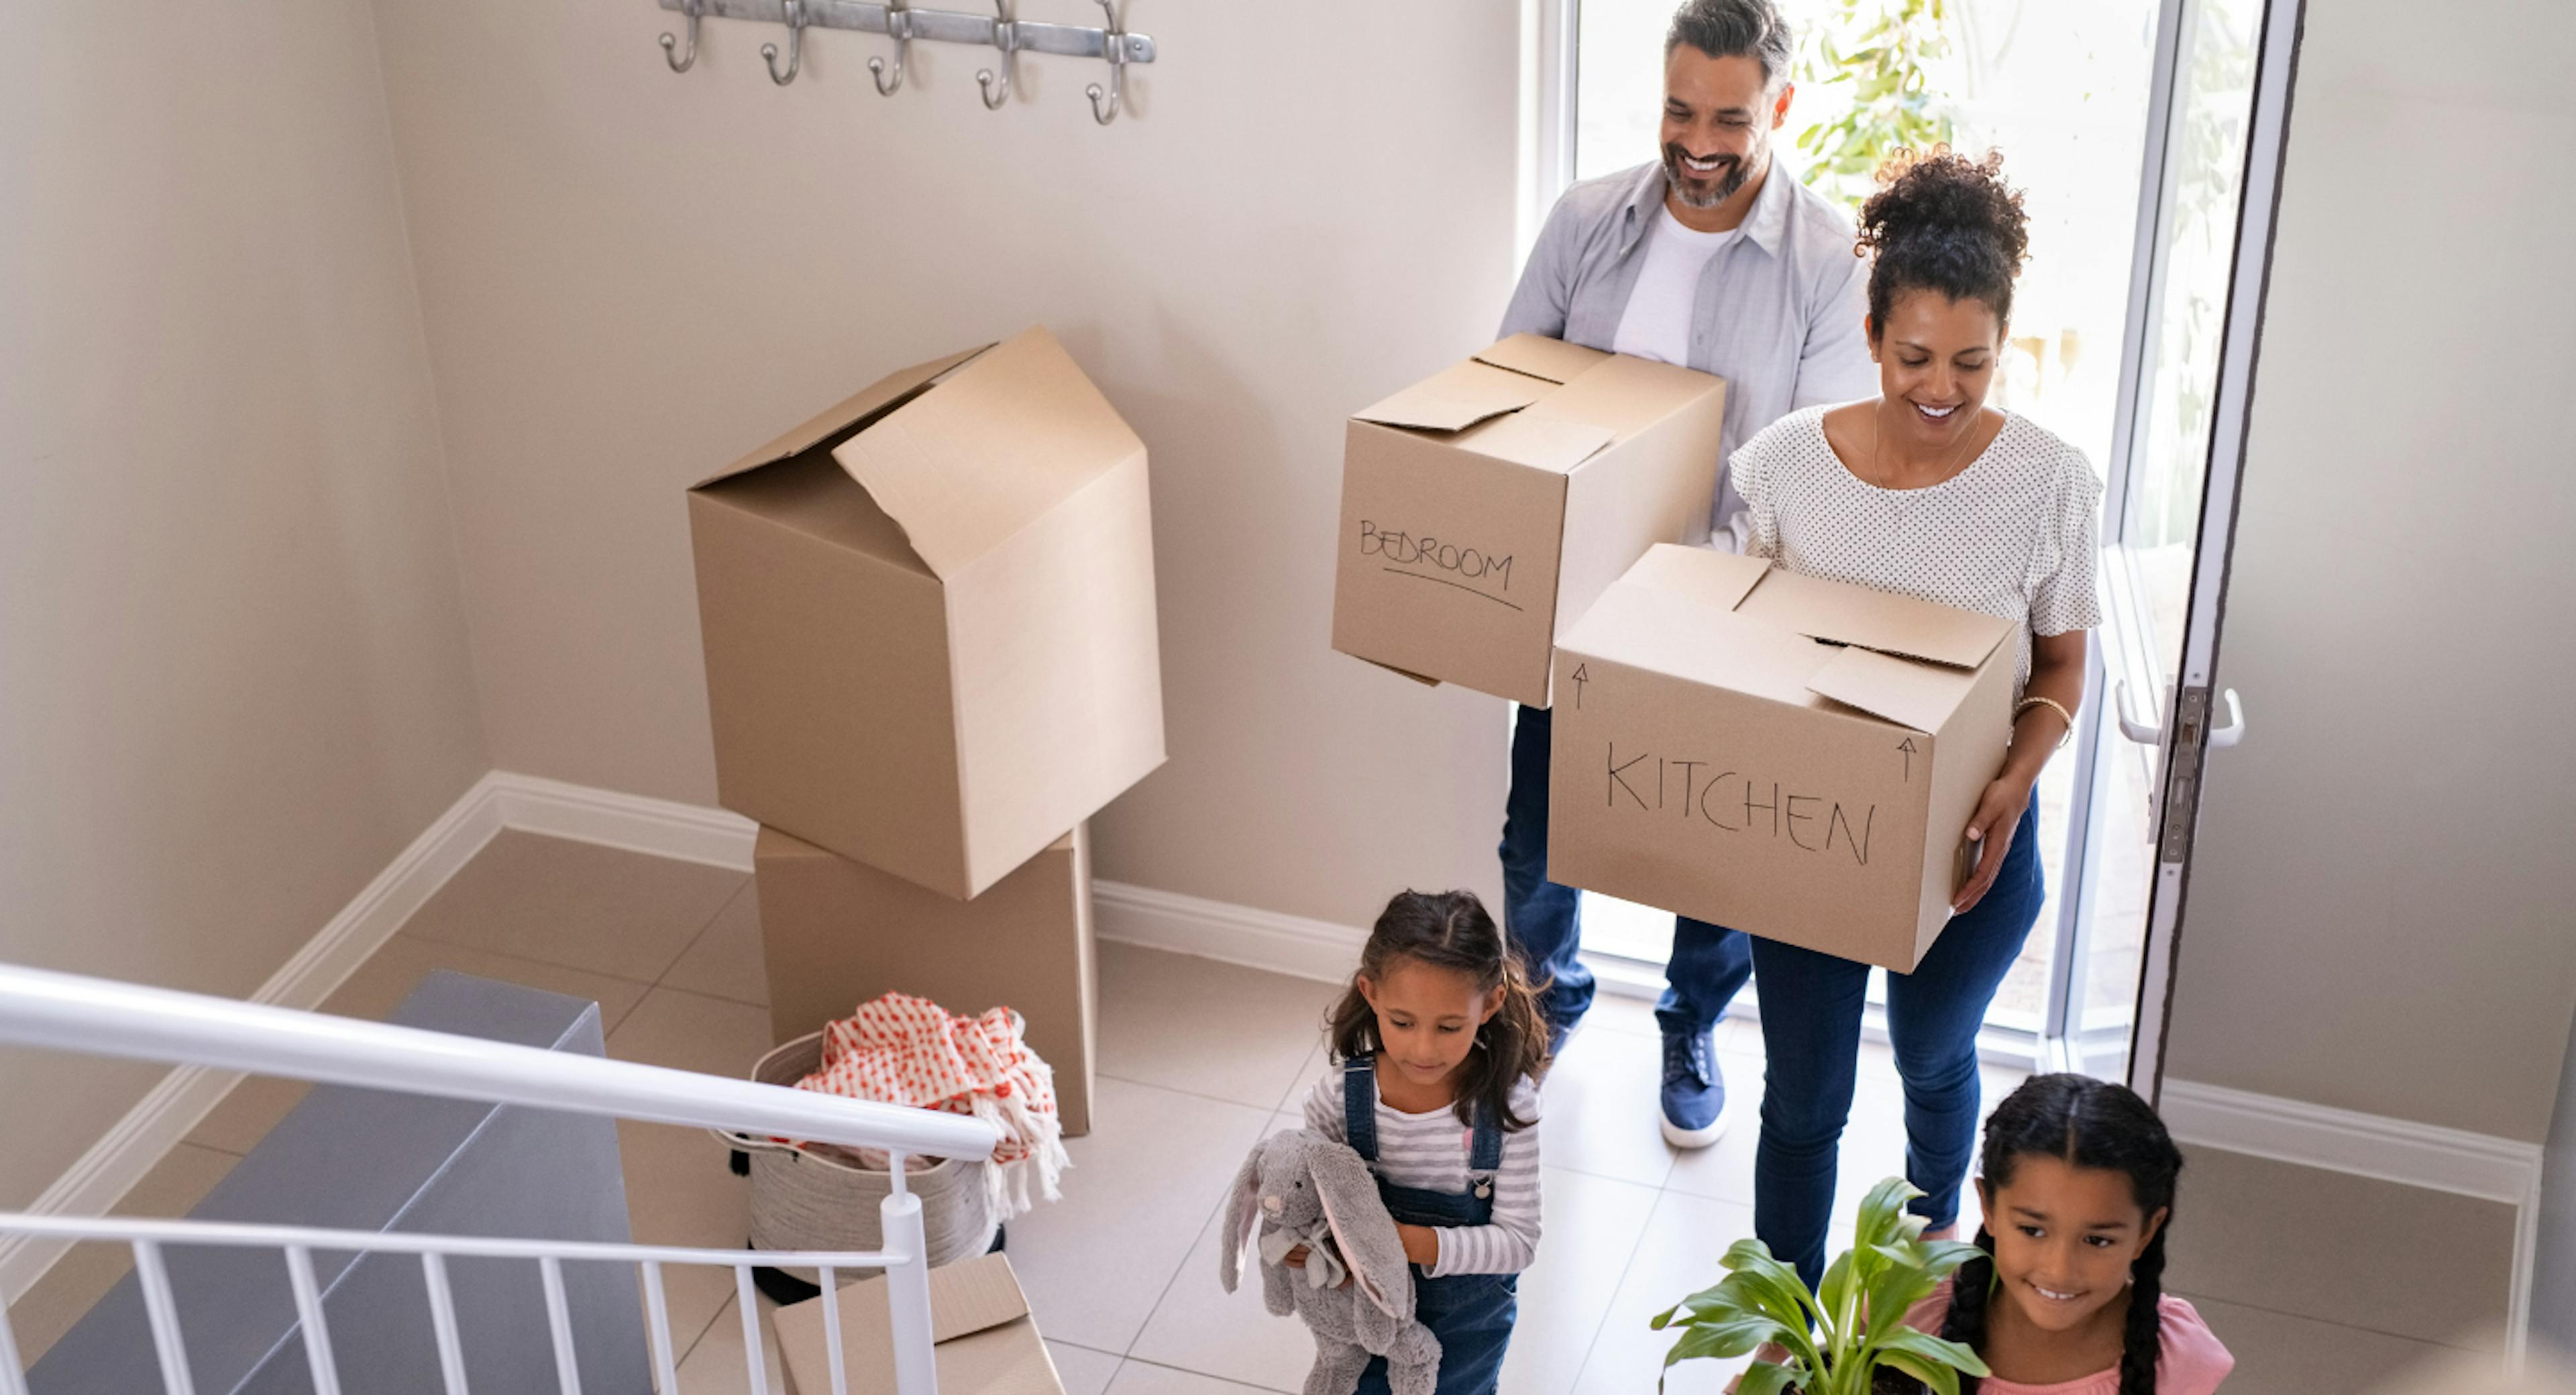
[[[1878,170],[1880,190],[1860,206],[1860,252],[1870,265],[1870,322],[1886,324],[1904,291],[1976,299],[2012,317],[2012,281],[2030,255],[2022,190],[2004,183],[2002,152],[1984,160],[1950,147],[1904,152]]]

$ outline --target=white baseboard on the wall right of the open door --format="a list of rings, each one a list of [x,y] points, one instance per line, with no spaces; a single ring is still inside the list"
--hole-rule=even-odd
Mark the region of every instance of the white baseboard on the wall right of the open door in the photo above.
[[[2512,1359],[2522,1359],[2532,1326],[2532,1269],[2540,1259],[2540,1176],[2545,1150],[2537,1143],[2391,1120],[2385,1114],[2329,1109],[2303,1099],[2280,1099],[2200,1081],[2164,1081],[2159,1112],[2182,1143],[2251,1153],[2277,1163],[2372,1176],[2432,1192],[2455,1192],[2514,1207],[2514,1277],[2506,1344]]]

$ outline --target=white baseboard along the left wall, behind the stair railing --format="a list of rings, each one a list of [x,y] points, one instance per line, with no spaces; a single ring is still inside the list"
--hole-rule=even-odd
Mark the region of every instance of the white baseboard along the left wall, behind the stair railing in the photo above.
[[[366,883],[278,973],[250,996],[255,1004],[312,1009],[438,893],[459,867],[502,831],[500,775],[484,775],[376,880]],[[232,1071],[178,1066],[116,1127],[28,1205],[36,1215],[106,1215],[170,1148],[204,1122],[240,1081]],[[0,1297],[15,1302],[44,1279],[67,1246],[36,1235],[0,1238]]]

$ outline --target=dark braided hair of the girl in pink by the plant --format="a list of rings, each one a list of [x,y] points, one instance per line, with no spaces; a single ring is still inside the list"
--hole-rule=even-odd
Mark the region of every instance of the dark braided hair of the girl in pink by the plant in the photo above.
[[[2128,1328],[2120,1336],[2120,1395],[2156,1395],[2156,1359],[2164,1354],[2164,1238],[2174,1233],[2182,1150],[2164,1132],[2164,1120],[2128,1086],[2092,1076],[2032,1076],[1986,1120],[1986,1150],[1978,1158],[1986,1187],[2009,1187],[2022,1158],[2125,1174],[2138,1210],[2164,1212],[2166,1223],[2128,1266]],[[1976,1228],[1976,1248],[1986,1253],[1963,1264],[1950,1282],[1940,1336],[1984,1349],[1986,1310],[1994,1305],[1994,1233],[1984,1225]],[[1976,1377],[1958,1380],[1960,1395],[1976,1395]]]

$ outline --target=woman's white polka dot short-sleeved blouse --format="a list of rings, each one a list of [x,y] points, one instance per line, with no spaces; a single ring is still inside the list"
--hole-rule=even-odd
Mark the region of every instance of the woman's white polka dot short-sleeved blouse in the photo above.
[[[2102,623],[2102,479],[2081,450],[2007,412],[1968,468],[1929,489],[1880,489],[1826,445],[1826,412],[1790,412],[1736,450],[1734,530],[1747,556],[2020,623],[2014,695],[2030,679],[2032,633]]]

